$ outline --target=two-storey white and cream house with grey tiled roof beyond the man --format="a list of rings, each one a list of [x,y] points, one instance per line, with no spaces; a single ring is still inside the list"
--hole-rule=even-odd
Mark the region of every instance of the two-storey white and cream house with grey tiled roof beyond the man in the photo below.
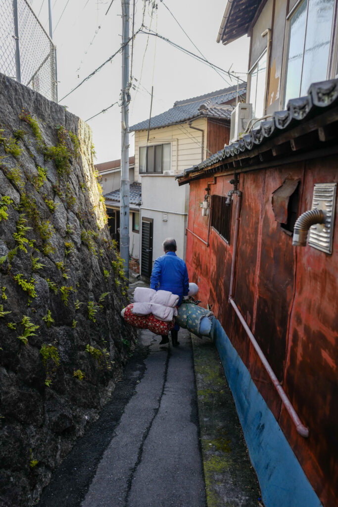
[[[174,237],[185,258],[189,187],[175,176],[199,164],[229,142],[230,117],[245,102],[246,83],[176,101],[168,111],[130,127],[135,132],[134,178],[142,186],[140,272],[149,277],[163,255],[162,242]]]

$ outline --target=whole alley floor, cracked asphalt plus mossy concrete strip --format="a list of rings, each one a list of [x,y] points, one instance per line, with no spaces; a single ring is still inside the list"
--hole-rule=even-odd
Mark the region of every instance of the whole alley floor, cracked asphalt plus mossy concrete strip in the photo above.
[[[186,330],[177,348],[159,341],[140,332],[111,399],[56,470],[39,507],[261,505],[234,403],[219,397],[229,387],[213,344],[196,339],[194,352]],[[218,397],[207,409],[210,372]]]

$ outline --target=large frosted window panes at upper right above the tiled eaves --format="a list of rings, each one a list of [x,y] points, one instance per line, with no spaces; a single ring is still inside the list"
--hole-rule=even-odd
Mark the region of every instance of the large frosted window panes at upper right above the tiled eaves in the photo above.
[[[329,64],[334,0],[303,0],[289,18],[284,107],[324,81]]]

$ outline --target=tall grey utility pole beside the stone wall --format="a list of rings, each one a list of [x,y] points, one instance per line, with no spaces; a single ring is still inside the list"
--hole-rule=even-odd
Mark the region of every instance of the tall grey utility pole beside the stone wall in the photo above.
[[[121,197],[120,255],[129,280],[129,0],[122,5],[122,114],[121,114]]]

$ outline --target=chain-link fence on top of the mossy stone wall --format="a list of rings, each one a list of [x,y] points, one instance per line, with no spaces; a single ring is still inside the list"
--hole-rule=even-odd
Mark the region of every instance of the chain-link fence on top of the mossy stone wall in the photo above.
[[[55,46],[27,0],[0,0],[0,71],[57,102]]]

